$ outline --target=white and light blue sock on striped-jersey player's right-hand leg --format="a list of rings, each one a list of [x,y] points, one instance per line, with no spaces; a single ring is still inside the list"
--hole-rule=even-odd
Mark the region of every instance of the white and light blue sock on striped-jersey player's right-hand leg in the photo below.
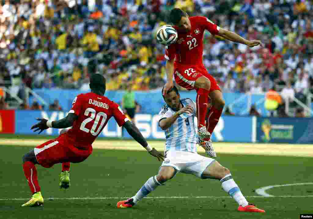
[[[233,197],[237,203],[243,207],[248,205],[248,201],[244,197],[244,195],[241,193],[238,185],[233,180],[233,176],[231,174],[227,174],[220,180],[222,184],[223,190],[227,192],[230,196]]]

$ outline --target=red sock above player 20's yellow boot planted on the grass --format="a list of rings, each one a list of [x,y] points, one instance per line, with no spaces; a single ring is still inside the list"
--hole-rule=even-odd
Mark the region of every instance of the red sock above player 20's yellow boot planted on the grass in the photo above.
[[[40,186],[38,184],[37,169],[35,167],[35,164],[33,164],[33,162],[26,161],[23,164],[23,170],[32,194],[34,194],[35,192],[39,192]]]

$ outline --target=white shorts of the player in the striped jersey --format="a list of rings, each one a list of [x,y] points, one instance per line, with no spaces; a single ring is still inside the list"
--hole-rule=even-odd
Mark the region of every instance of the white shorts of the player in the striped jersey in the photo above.
[[[197,153],[169,150],[161,167],[170,166],[176,169],[177,172],[193,174],[204,179],[202,173],[213,161],[215,160]]]

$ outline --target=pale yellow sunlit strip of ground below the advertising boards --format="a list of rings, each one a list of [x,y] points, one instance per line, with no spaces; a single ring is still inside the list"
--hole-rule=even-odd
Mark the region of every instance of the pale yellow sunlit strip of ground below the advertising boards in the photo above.
[[[15,146],[37,146],[48,139],[8,139],[0,138],[0,145]],[[149,141],[148,141],[149,142]],[[164,150],[165,141],[150,141],[151,147],[159,151]],[[94,149],[115,149],[115,150],[140,150],[145,149],[134,140],[95,140],[92,144]],[[313,157],[312,144],[266,144],[266,143],[221,143],[213,142],[213,147],[217,153],[226,154],[258,154],[258,155],[275,155],[275,156],[299,156]],[[199,146],[199,153],[204,150]]]

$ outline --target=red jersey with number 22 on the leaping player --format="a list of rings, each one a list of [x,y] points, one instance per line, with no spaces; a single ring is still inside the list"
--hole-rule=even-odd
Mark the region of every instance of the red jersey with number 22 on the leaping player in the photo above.
[[[189,18],[191,30],[182,33],[177,30],[178,38],[175,44],[165,47],[165,58],[172,60],[175,58],[174,67],[177,65],[203,65],[203,33],[208,30],[211,34],[218,34],[219,27],[211,20],[202,16]]]

